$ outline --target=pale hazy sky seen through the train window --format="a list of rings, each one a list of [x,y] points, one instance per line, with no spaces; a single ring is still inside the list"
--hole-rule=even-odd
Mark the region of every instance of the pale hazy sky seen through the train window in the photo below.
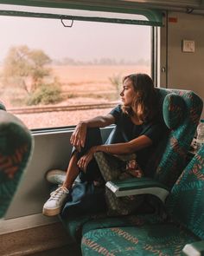
[[[43,49],[52,59],[150,59],[147,26],[75,21],[64,28],[60,20],[0,16],[0,38],[0,62],[10,46],[22,44]]]

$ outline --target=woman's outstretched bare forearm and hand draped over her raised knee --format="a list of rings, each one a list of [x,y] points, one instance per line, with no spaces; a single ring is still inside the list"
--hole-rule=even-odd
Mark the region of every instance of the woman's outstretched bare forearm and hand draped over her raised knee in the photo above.
[[[70,142],[73,147],[80,151],[85,146],[87,128],[104,128],[115,122],[113,115],[101,115],[86,121],[80,121],[73,131]]]

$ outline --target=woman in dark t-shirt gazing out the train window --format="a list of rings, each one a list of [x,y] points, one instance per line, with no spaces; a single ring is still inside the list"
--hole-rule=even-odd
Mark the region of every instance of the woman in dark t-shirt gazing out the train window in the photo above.
[[[145,168],[145,162],[162,132],[161,125],[156,120],[158,104],[156,89],[149,75],[132,74],[124,77],[120,96],[122,105],[113,108],[108,115],[80,121],[76,126],[70,139],[74,148],[67,167],[66,180],[44,204],[45,215],[54,216],[61,212],[61,207],[79,173],[82,181],[101,180],[99,167],[93,157],[95,152],[102,151],[108,154],[137,152],[139,166]],[[116,127],[103,145],[99,128],[111,124],[116,124]]]

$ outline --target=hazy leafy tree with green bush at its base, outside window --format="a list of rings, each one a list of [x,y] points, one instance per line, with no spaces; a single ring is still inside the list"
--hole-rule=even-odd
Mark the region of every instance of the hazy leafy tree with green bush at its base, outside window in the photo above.
[[[4,83],[24,89],[27,97],[22,96],[21,100],[27,105],[60,102],[61,83],[46,67],[50,62],[41,49],[29,49],[26,45],[12,47],[3,63]]]

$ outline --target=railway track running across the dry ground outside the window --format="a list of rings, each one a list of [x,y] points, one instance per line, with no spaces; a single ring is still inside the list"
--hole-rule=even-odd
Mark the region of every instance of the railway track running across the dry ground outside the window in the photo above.
[[[7,111],[12,114],[34,114],[43,112],[60,112],[87,110],[94,108],[113,108],[118,102],[99,103],[99,104],[83,104],[83,105],[67,105],[67,106],[49,106],[49,107],[28,107],[28,108],[8,108]]]

